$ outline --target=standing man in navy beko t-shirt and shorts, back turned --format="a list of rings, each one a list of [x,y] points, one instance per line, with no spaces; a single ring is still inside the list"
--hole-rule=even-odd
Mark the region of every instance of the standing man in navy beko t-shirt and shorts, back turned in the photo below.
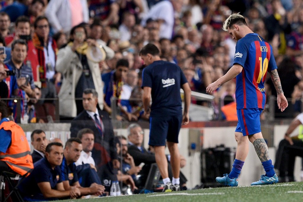
[[[165,185],[163,191],[168,192],[180,190],[178,134],[181,124],[189,122],[191,90],[180,67],[162,61],[159,54],[159,49],[153,44],[145,45],[140,51],[141,58],[145,65],[148,65],[142,72],[142,101],[144,113],[150,121],[148,144],[155,147],[156,163]],[[180,88],[184,90],[185,95],[183,116]],[[165,156],[166,140],[171,154],[172,183],[168,177],[168,162]]]

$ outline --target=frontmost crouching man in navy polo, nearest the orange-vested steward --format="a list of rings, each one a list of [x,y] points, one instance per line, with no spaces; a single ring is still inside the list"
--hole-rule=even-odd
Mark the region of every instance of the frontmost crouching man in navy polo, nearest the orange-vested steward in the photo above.
[[[63,158],[63,145],[52,142],[45,149],[45,157],[34,164],[31,174],[19,185],[25,201],[56,200],[80,196],[78,188],[64,190],[59,165]]]

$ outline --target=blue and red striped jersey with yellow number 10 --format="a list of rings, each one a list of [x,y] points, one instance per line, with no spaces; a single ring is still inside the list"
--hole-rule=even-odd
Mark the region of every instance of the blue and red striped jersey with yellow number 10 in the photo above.
[[[236,77],[237,109],[264,109],[266,73],[277,69],[271,45],[258,34],[245,35],[237,42],[234,64],[243,67]]]

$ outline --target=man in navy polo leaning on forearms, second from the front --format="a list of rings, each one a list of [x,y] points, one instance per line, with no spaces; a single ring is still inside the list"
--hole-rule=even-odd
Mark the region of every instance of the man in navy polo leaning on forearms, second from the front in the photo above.
[[[64,157],[60,166],[64,189],[72,190],[74,187],[78,187],[81,195],[102,195],[105,187],[100,184],[92,183],[90,187],[81,187],[79,184],[75,162],[80,157],[81,151],[82,142],[79,138],[72,137],[66,141]]]

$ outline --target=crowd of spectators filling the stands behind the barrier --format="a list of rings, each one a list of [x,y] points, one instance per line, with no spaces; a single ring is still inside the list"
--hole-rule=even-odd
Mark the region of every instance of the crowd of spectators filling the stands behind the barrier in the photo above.
[[[144,119],[139,101],[144,65],[138,53],[147,43],[161,49],[163,60],[183,69],[192,91],[205,93],[208,84],[233,64],[236,41],[221,29],[232,12],[245,15],[251,30],[273,46],[285,96],[292,103],[284,115],[276,110],[276,117],[292,118],[301,111],[300,0],[1,2],[1,98],[21,97],[22,123],[55,120],[55,98],[61,120],[75,118],[83,110],[85,88],[97,90],[98,106],[108,113],[113,109],[111,98],[117,99],[115,119]],[[15,52],[20,40],[25,40],[27,54]],[[102,47],[99,57],[91,58],[89,47],[96,45]],[[5,69],[16,73],[5,78]],[[265,91],[270,95],[272,90],[269,79]],[[235,120],[235,82],[219,88],[211,102],[193,97],[192,103],[212,107],[214,120]],[[16,104],[8,105],[16,118]]]

